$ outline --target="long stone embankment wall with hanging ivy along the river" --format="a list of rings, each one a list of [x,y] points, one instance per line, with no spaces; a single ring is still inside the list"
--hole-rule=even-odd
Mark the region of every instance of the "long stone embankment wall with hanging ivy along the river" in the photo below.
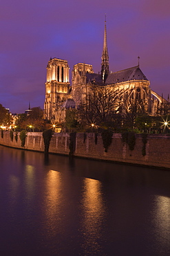
[[[142,156],[143,143],[140,134],[136,134],[136,145],[132,151],[129,150],[126,143],[123,143],[121,134],[114,134],[107,152],[103,148],[103,140],[100,135],[97,137],[97,143],[95,143],[95,134],[86,135],[86,138],[84,138],[83,133],[76,134],[74,156],[170,169],[170,136],[166,134],[148,134],[145,156]],[[44,151],[43,136],[42,133],[38,132],[27,134],[25,147],[23,148],[21,147],[19,134],[17,141],[14,138],[11,141],[10,131],[4,131],[3,138],[1,138],[0,133],[0,144],[19,149]],[[54,134],[50,141],[49,152],[68,155],[70,152],[69,144],[70,134]]]

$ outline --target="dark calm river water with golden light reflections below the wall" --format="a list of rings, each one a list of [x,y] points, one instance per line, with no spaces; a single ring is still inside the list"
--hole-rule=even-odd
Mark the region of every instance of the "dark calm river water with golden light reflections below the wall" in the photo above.
[[[170,172],[0,146],[0,255],[170,255]]]

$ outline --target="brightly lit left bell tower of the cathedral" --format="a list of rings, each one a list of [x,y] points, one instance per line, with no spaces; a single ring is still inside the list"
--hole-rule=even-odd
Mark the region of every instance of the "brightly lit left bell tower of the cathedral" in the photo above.
[[[55,121],[56,110],[66,100],[70,91],[69,66],[67,60],[50,58],[47,63],[47,82],[45,83],[45,119]]]

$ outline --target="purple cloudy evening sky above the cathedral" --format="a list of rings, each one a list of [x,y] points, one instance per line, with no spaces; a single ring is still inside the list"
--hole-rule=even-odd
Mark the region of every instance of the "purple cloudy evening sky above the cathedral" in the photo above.
[[[43,108],[50,57],[100,71],[105,13],[110,71],[138,64],[151,89],[170,93],[169,0],[6,0],[0,8],[0,103]],[[70,77],[71,80],[71,77]]]

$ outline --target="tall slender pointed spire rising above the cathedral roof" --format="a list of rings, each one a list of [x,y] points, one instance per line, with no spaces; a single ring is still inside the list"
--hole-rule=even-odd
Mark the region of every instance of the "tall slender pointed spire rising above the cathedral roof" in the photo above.
[[[104,31],[104,42],[103,42],[103,53],[102,53],[102,64],[101,64],[101,75],[102,80],[105,82],[107,75],[109,75],[109,55],[107,51],[107,32],[106,32],[106,15],[105,15],[105,31]]]

